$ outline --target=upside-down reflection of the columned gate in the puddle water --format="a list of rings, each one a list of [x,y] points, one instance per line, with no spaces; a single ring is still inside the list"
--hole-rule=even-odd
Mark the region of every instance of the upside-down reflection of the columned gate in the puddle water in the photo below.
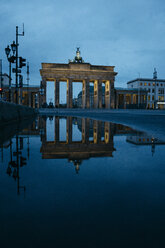
[[[80,119],[79,119],[80,120]],[[113,135],[114,124],[101,121],[90,121],[90,119],[81,119],[78,128],[81,130],[81,141],[72,140],[73,118],[66,118],[66,141],[60,141],[60,118],[55,117],[55,140],[47,141],[46,121],[44,122],[44,132],[42,135],[41,153],[43,159],[67,158],[76,166],[82,160],[91,157],[112,157],[115,150]],[[93,130],[93,139],[90,140],[91,130]]]

